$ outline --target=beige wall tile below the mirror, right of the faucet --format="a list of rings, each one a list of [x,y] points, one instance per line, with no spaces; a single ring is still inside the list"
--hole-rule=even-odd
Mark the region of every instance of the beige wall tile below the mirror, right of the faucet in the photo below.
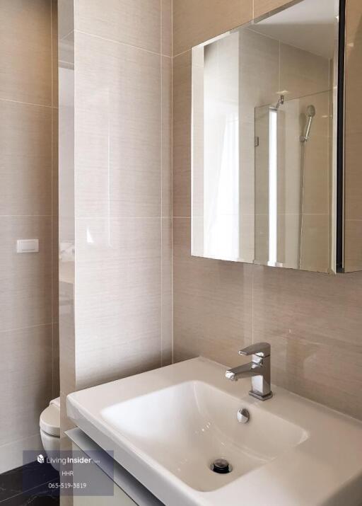
[[[253,338],[271,343],[271,380],[358,418],[361,287],[360,274],[255,267]]]

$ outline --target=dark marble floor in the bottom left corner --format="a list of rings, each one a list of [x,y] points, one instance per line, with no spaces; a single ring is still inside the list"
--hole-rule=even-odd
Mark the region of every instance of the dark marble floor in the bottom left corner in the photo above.
[[[31,462],[0,474],[1,506],[59,505],[59,473],[50,464]]]

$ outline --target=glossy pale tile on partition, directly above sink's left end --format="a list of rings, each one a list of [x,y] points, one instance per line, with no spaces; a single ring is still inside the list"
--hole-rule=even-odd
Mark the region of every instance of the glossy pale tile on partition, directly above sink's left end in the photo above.
[[[160,218],[78,219],[76,251],[77,389],[160,364]]]

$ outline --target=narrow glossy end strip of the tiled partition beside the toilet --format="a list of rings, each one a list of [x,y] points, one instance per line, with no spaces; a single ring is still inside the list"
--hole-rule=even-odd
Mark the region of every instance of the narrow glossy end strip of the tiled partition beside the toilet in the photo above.
[[[59,48],[59,368],[61,434],[72,427],[65,398],[76,390],[74,321],[74,1],[58,0]],[[62,449],[69,449],[66,437]],[[63,501],[66,499],[62,498]]]

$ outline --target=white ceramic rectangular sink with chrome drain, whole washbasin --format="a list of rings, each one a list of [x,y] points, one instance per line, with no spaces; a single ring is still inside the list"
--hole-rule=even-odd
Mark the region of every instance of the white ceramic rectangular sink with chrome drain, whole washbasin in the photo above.
[[[361,422],[276,387],[262,403],[225,371],[200,357],[113,381],[69,395],[68,415],[165,505],[361,504]]]

